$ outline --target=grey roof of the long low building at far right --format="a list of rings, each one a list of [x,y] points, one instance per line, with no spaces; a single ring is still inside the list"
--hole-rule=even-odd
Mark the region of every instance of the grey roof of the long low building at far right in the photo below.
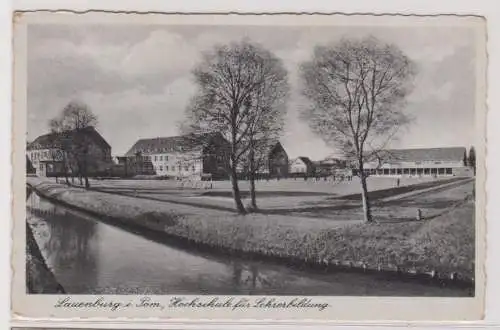
[[[379,157],[385,162],[462,161],[465,153],[465,147],[387,149]]]

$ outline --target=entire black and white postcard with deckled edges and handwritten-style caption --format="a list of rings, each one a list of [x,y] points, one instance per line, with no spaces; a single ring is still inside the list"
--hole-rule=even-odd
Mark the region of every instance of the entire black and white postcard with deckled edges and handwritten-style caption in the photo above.
[[[18,13],[14,317],[479,320],[472,16]]]

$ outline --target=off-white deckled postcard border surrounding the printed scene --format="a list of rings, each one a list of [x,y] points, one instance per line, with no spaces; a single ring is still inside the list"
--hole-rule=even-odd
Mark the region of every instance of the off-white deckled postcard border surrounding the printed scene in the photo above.
[[[477,75],[477,131],[478,143],[476,152],[478,158],[477,172],[477,249],[476,249],[476,296],[474,298],[389,298],[389,297],[311,297],[314,301],[330,304],[324,311],[307,309],[301,313],[294,309],[263,310],[242,309],[228,311],[227,309],[173,309],[173,310],[140,310],[123,309],[115,312],[103,310],[64,310],[54,308],[58,296],[27,295],[25,293],[25,134],[26,131],[26,26],[27,24],[85,24],[89,22],[127,23],[127,24],[457,24],[457,17],[404,17],[404,16],[308,16],[308,15],[121,15],[106,13],[89,14],[53,14],[25,13],[17,14],[14,21],[14,109],[13,109],[13,281],[12,309],[15,318],[154,318],[170,320],[478,320],[483,318],[485,290],[485,127],[486,127],[486,54],[484,24],[478,24],[481,18],[468,17],[460,19],[460,24],[475,24],[478,31],[478,55],[483,61],[478,61]],[[104,21],[105,20],[105,21]],[[484,22],[483,22],[484,23]],[[406,23],[410,24],[410,23]],[[66,295],[71,296],[71,295]],[[93,300],[96,296],[71,296],[75,300]],[[168,305],[170,296],[150,296],[151,299]],[[107,300],[125,301],[138,299],[134,296],[105,296]],[[244,298],[238,296],[237,298]],[[255,300],[259,297],[247,297]],[[203,298],[204,300],[208,298]],[[227,297],[220,297],[224,300]],[[290,299],[290,298],[287,298]]]

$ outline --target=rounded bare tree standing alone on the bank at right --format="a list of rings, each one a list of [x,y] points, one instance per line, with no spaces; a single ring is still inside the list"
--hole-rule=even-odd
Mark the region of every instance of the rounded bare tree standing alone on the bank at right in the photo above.
[[[354,160],[365,220],[372,221],[364,164],[410,120],[402,109],[415,67],[396,46],[368,37],[317,46],[301,67],[311,129]]]

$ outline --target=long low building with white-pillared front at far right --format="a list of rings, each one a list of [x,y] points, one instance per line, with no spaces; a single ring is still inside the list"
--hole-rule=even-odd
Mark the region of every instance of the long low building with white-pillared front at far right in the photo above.
[[[372,156],[364,168],[372,176],[471,176],[466,161],[464,147],[388,149]]]

